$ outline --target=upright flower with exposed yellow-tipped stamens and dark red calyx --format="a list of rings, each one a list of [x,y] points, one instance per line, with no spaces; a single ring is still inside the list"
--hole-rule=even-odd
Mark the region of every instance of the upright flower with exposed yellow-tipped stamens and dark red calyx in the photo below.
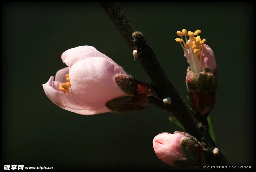
[[[189,31],[189,40],[182,38],[184,56],[187,58],[187,101],[191,108],[202,117],[207,117],[215,104],[215,93],[219,82],[219,73],[212,49],[204,44],[205,39],[196,36],[201,33]],[[196,37],[195,37],[196,36]]]

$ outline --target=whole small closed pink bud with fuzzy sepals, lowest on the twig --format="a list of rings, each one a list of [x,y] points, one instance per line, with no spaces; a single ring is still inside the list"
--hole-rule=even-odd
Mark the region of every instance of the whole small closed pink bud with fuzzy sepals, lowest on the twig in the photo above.
[[[188,133],[158,134],[153,139],[153,148],[159,159],[173,167],[185,168],[204,162],[202,144]]]

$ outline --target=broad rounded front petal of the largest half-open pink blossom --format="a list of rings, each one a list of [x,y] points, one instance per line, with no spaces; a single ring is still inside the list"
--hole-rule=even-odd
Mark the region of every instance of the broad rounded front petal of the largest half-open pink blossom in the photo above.
[[[75,102],[87,110],[100,110],[109,100],[126,96],[114,81],[117,74],[126,73],[109,58],[85,58],[74,63],[69,78]]]

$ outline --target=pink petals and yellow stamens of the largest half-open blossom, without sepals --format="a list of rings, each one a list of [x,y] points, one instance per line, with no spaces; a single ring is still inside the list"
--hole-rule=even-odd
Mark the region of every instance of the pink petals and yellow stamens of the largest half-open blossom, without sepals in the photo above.
[[[82,115],[110,112],[106,103],[125,93],[114,81],[126,74],[122,67],[92,46],[80,46],[63,52],[68,67],[43,84],[48,98],[59,107]]]

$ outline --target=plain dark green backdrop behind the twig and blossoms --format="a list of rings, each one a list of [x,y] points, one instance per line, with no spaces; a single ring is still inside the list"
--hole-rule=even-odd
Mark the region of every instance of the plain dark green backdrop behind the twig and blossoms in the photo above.
[[[211,113],[219,147],[232,165],[254,162],[253,3],[120,3],[186,98],[183,50],[176,31],[202,30],[220,72]],[[118,115],[78,115],[52,103],[42,84],[66,67],[67,49],[90,45],[138,80],[150,82],[96,3],[3,3],[2,165],[53,169],[175,169],[152,146],[161,132],[180,130],[150,105]],[[198,167],[187,168],[198,169]]]

